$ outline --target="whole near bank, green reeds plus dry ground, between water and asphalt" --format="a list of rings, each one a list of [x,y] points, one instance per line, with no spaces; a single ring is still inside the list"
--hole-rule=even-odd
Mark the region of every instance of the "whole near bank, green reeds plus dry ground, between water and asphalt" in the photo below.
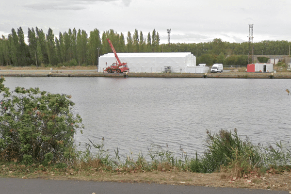
[[[202,157],[189,158],[185,153],[176,157],[169,150],[149,147],[146,154],[121,158],[118,148],[111,156],[103,143],[89,142],[74,162],[24,165],[2,161],[0,175],[291,191],[290,146],[254,146],[242,141],[236,130],[213,135],[208,131],[207,136]]]

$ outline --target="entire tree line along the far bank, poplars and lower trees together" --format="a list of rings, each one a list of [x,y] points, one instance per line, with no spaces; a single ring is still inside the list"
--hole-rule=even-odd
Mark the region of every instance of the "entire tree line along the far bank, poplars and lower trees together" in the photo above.
[[[116,52],[191,52],[196,63],[224,63],[226,65],[247,65],[248,42],[229,43],[221,39],[201,43],[160,44],[159,32],[155,29],[144,35],[135,29],[127,36],[113,29],[104,31],[100,37],[97,29],[89,32],[69,29],[59,32],[52,29],[28,29],[28,44],[25,43],[21,27],[11,30],[6,38],[0,38],[0,65],[98,65],[98,56],[112,52],[106,38],[110,38]],[[253,43],[255,55],[288,55],[289,41],[261,41]]]

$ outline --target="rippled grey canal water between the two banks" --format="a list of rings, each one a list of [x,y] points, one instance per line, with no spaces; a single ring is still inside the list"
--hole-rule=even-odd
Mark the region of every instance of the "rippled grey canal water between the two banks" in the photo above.
[[[136,156],[155,148],[201,156],[207,130],[237,129],[243,140],[274,146],[291,139],[291,80],[6,77],[14,89],[39,87],[72,95],[85,129],[79,149],[90,139],[115,156]]]

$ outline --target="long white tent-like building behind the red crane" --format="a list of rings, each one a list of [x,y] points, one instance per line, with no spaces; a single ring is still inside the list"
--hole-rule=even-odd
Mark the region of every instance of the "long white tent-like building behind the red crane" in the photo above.
[[[132,73],[162,73],[165,69],[177,73],[196,73],[196,57],[191,52],[141,52],[117,55],[121,63],[128,64],[129,72]],[[113,53],[100,56],[98,72],[103,72],[113,63],[116,63]]]

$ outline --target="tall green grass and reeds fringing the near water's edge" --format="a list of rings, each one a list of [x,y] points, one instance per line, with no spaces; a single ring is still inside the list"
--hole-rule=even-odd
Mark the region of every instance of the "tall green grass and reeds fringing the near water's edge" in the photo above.
[[[20,165],[17,162],[0,162],[0,174],[8,176],[9,171],[26,173],[34,171],[46,171],[53,169],[54,173],[64,173],[64,169],[71,168],[75,172],[103,171],[117,174],[161,171],[190,171],[196,173],[223,172],[235,177],[245,175],[260,175],[268,173],[281,173],[291,171],[291,149],[284,147],[281,142],[274,147],[254,146],[251,142],[243,141],[235,129],[234,131],[220,130],[217,134],[207,131],[208,139],[204,155],[189,158],[180,148],[182,154],[176,157],[168,149],[149,146],[146,154],[140,153],[136,159],[132,154],[125,159],[119,156],[116,147],[115,156],[111,156],[103,142],[94,144],[89,140],[86,150],[78,152],[75,162],[67,166],[65,163],[33,164],[31,166]],[[93,154],[94,153],[94,154]],[[4,166],[4,167],[3,167]],[[2,172],[1,172],[2,171]],[[15,175],[17,176],[17,175]]]

